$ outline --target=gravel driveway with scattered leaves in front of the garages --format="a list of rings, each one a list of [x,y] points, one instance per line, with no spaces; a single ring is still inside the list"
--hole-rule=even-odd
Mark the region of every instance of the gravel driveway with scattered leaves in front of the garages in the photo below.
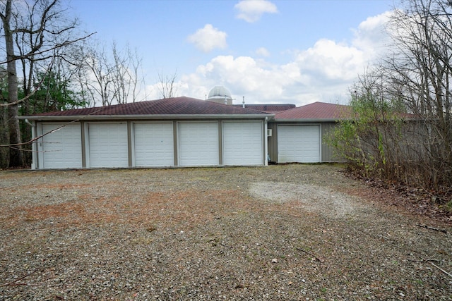
[[[0,171],[0,300],[452,300],[451,224],[372,191],[335,165]]]

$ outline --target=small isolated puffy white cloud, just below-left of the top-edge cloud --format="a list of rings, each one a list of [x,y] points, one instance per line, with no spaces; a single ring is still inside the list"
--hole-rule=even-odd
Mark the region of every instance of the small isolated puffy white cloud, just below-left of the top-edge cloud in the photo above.
[[[209,52],[217,48],[225,49],[227,47],[226,37],[226,32],[206,24],[203,28],[196,30],[193,35],[189,35],[187,41],[193,43],[199,50]]]

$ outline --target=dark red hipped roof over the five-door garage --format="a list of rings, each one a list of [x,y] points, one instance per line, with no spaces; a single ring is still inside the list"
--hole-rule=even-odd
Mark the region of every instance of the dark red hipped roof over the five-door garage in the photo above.
[[[114,104],[85,109],[40,113],[33,116],[127,116],[127,115],[266,115],[262,111],[208,102],[191,97]]]

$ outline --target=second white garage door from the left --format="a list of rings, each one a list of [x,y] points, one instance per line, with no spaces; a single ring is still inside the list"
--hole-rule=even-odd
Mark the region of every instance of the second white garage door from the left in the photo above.
[[[89,167],[128,167],[126,123],[88,125]]]

